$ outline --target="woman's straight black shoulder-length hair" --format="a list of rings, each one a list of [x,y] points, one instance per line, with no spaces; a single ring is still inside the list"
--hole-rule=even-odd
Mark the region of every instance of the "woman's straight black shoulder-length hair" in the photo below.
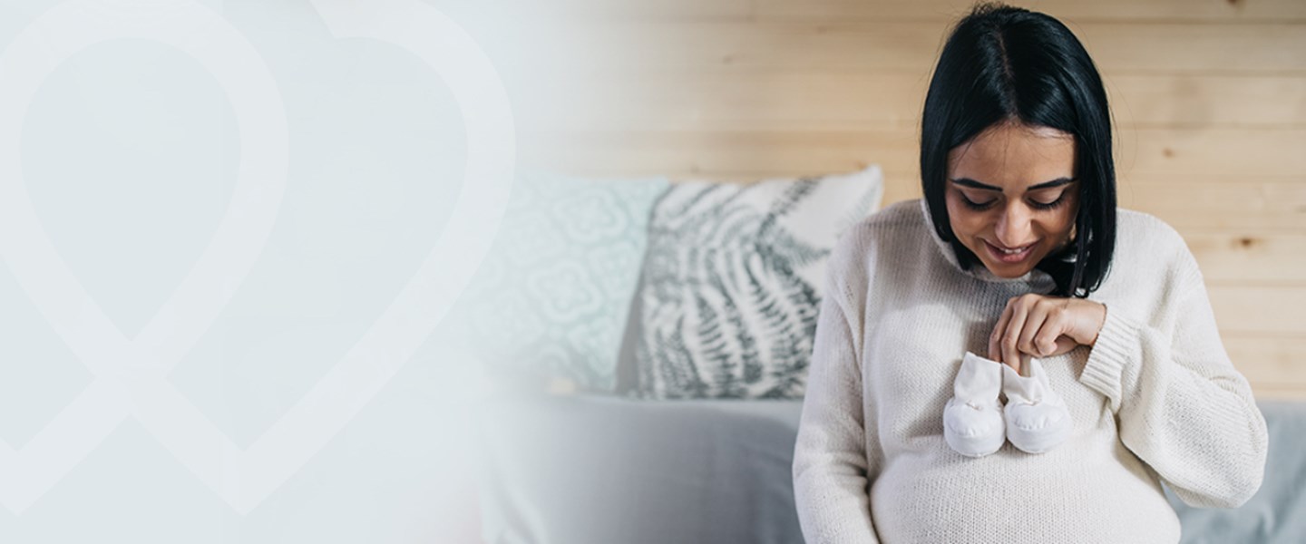
[[[1050,127],[1075,137],[1077,232],[1036,266],[1057,280],[1055,295],[1087,297],[1101,286],[1115,250],[1115,162],[1101,76],[1060,21],[980,4],[943,46],[921,116],[921,188],[939,237],[968,270],[983,265],[952,234],[944,204],[948,151],[1000,123]]]

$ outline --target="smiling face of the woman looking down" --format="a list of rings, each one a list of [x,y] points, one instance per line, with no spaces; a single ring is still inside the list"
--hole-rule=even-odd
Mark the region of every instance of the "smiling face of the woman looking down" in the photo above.
[[[1019,123],[990,127],[948,153],[952,232],[994,275],[1019,278],[1070,243],[1079,211],[1074,177],[1074,136]]]

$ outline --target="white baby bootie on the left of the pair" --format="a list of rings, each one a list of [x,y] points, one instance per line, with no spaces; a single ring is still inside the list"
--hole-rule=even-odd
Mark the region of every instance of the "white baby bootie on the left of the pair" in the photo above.
[[[952,384],[952,398],[943,407],[943,438],[966,457],[985,457],[1002,447],[1002,363],[966,352]]]

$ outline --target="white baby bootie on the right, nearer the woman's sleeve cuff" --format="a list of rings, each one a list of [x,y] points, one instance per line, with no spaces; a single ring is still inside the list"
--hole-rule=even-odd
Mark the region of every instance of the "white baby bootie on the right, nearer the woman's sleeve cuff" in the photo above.
[[[1066,441],[1074,428],[1070,408],[1047,385],[1037,357],[1029,357],[1029,377],[1002,365],[1002,391],[1007,394],[1007,440],[1027,453],[1043,453]]]

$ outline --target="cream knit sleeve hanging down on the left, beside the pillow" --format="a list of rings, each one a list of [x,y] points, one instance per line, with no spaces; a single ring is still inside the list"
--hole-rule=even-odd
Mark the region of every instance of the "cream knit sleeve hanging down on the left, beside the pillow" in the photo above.
[[[807,374],[794,446],[794,504],[807,544],[879,543],[870,511],[870,481],[878,463],[867,459],[862,372],[852,305],[838,266],[831,262]],[[878,444],[878,442],[875,442]]]

